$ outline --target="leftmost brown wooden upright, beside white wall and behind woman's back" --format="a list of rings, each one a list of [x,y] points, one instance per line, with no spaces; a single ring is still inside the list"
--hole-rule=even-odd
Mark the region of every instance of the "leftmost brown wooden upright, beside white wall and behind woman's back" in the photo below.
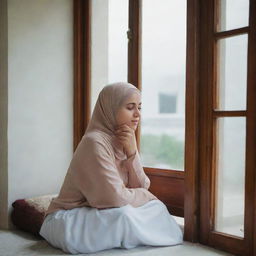
[[[90,118],[90,17],[90,0],[74,0],[74,151]]]

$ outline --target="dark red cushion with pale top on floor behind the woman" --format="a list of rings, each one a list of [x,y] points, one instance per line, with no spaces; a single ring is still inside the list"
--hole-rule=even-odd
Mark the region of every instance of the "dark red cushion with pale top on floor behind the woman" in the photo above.
[[[44,220],[45,211],[48,209],[51,200],[56,196],[43,195],[16,200],[12,204],[11,220],[13,224],[23,231],[40,236],[39,231]]]

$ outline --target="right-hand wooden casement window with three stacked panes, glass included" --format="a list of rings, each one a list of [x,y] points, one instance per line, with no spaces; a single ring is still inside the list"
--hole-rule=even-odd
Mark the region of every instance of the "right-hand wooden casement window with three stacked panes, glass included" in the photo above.
[[[255,255],[255,9],[207,1],[201,16],[200,241],[235,255]]]

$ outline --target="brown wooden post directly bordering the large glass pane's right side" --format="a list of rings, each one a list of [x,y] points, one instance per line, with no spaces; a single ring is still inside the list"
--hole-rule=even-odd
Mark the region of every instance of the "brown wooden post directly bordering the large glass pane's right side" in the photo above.
[[[184,239],[198,240],[199,1],[187,1]]]

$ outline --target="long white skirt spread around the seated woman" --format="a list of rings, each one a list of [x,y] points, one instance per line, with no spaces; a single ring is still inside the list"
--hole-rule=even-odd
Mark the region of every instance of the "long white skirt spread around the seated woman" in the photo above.
[[[99,210],[82,207],[49,214],[40,235],[67,253],[93,253],[138,245],[182,243],[182,231],[160,200],[140,207],[125,205]]]

